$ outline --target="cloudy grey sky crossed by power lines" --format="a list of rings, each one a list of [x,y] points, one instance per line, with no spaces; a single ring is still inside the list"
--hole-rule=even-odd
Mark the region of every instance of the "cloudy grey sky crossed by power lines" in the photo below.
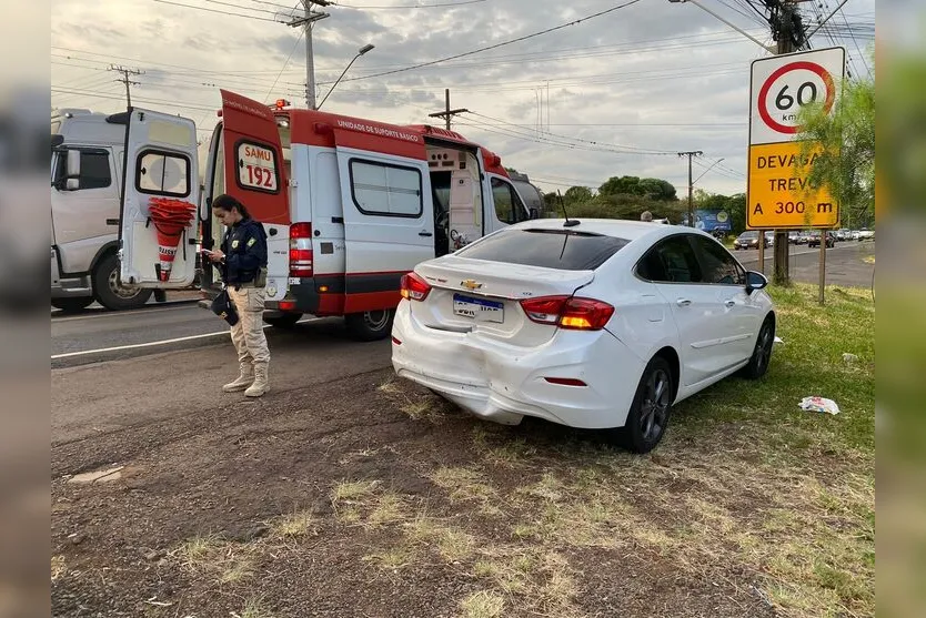
[[[773,44],[747,0],[701,4]],[[815,22],[838,4],[814,0],[802,10]],[[596,189],[611,176],[635,175],[665,179],[684,195],[687,159],[677,153],[702,151],[695,189],[745,192],[751,63],[771,54],[698,6],[344,0],[315,10],[330,16],[312,32],[319,100],[359,48],[375,45],[354,62],[325,111],[443,125],[427,114],[444,109],[449,88],[451,107],[470,110],[453,129],[544,191]],[[190,118],[204,140],[217,122],[219,88],[304,107],[305,42],[299,28],[282,23],[301,12],[298,0],[56,0],[52,107],[124,110],[112,64],[141,71],[132,77],[133,104]],[[845,47],[849,73],[867,78],[874,22],[875,0],[848,0],[811,43]]]

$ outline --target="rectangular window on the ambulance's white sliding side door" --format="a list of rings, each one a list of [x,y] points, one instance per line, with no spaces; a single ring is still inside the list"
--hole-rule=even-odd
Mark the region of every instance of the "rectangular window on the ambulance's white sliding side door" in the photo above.
[[[421,172],[372,161],[351,160],[351,194],[363,214],[421,216]]]

